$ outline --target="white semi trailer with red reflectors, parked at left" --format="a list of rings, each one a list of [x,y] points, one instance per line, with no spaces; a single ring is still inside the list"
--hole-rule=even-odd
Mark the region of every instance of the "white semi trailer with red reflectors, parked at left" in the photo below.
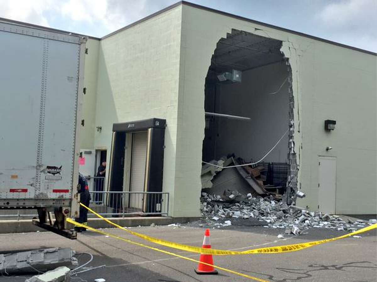
[[[0,211],[76,238],[78,137],[86,38],[0,20]],[[54,212],[54,218],[51,216]]]

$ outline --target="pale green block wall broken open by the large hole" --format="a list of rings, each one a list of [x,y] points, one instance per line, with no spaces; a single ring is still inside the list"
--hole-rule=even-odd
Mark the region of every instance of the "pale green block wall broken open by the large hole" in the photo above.
[[[307,194],[297,205],[318,210],[318,156],[333,155],[336,212],[376,213],[376,56],[185,4],[175,182],[180,194],[190,191],[190,201],[200,197],[204,82],[216,43],[231,29],[283,41],[294,105],[290,159],[299,169],[292,181]],[[337,120],[336,130],[324,131],[326,119]]]

